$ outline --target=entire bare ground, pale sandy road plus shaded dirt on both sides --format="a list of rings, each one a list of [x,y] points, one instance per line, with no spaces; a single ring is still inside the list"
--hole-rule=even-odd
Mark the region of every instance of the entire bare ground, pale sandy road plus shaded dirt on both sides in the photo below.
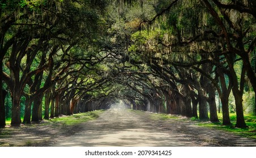
[[[198,126],[189,119],[163,120],[150,112],[114,108],[75,125],[45,121],[0,129],[0,146],[256,147],[256,140]]]

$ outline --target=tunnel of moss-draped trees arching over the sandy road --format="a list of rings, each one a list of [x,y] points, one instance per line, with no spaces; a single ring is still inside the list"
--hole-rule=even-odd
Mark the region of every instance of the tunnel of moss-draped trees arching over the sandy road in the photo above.
[[[246,127],[255,0],[1,0],[0,126],[107,109]]]

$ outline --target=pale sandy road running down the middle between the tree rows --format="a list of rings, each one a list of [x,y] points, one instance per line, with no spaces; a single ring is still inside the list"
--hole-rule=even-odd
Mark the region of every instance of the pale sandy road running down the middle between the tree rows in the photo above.
[[[96,120],[80,126],[69,138],[54,146],[189,146],[179,135],[170,135],[146,118],[126,109],[109,109]]]

